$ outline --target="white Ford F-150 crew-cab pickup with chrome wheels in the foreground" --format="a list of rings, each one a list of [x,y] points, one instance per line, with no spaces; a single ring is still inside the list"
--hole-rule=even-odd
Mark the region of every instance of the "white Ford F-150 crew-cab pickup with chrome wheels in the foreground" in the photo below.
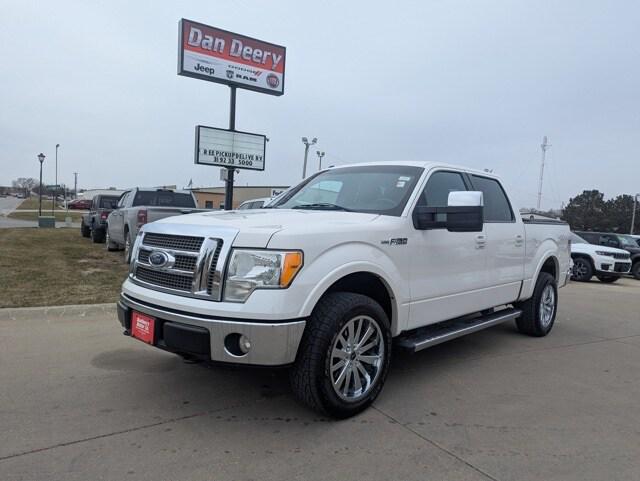
[[[380,393],[392,341],[418,351],[509,320],[551,331],[569,227],[517,212],[484,172],[331,168],[266,209],[144,226],[119,321],[190,360],[289,366],[299,400],[348,417]]]

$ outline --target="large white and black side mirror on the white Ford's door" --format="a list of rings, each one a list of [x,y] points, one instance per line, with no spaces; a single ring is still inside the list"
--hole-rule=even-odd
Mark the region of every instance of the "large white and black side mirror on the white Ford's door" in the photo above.
[[[482,192],[450,192],[447,204],[447,207],[416,207],[413,211],[413,226],[419,230],[482,231],[484,222]]]

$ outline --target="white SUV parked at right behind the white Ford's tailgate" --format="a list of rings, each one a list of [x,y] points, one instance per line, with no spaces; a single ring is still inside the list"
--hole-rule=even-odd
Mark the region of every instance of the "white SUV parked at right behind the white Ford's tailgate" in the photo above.
[[[571,234],[571,279],[587,282],[595,275],[600,282],[617,281],[631,269],[631,255],[614,247],[590,244],[582,237]]]

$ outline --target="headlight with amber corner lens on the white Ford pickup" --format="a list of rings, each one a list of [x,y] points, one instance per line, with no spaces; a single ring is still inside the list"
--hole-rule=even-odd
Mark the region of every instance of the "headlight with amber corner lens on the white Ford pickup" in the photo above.
[[[223,300],[244,302],[255,289],[284,289],[302,267],[300,251],[234,249]]]

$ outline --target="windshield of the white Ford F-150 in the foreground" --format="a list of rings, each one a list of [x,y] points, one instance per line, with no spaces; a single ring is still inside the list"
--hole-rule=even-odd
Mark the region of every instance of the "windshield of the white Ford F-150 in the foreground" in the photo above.
[[[326,170],[289,190],[269,207],[399,216],[423,170],[405,165]]]

